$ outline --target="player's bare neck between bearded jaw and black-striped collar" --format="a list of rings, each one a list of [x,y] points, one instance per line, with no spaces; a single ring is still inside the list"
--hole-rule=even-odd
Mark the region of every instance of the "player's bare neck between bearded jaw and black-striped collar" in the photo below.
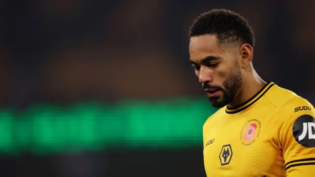
[[[229,103],[227,107],[229,108],[235,107],[246,102],[266,85],[266,82],[264,82],[258,76],[258,74],[253,68],[251,68],[250,73],[246,74],[248,74],[248,76],[243,77],[241,89],[238,91],[234,100],[231,103]]]

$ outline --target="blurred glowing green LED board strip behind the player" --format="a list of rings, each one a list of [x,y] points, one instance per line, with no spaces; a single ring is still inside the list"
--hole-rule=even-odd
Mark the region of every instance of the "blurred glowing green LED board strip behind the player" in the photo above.
[[[0,152],[200,146],[202,125],[215,111],[204,98],[3,109]]]

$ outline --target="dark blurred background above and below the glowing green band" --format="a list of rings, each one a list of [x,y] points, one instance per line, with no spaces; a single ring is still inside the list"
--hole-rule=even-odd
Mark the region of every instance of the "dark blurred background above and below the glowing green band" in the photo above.
[[[265,81],[315,103],[314,0],[1,0],[0,106],[19,115],[44,103],[199,97],[188,29],[212,8],[248,19],[253,64]],[[50,155],[22,150],[1,153],[0,170],[1,177],[205,177],[202,142]]]

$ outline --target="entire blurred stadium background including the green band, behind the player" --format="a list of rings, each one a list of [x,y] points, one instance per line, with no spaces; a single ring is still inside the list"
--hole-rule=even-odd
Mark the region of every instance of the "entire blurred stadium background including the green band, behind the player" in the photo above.
[[[216,110],[188,29],[212,8],[249,20],[265,81],[315,103],[314,0],[1,0],[1,177],[205,177]]]

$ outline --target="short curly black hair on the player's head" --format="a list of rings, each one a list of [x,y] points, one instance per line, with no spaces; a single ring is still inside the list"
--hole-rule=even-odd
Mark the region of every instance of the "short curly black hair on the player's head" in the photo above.
[[[250,44],[255,38],[248,21],[238,13],[226,9],[213,9],[196,18],[189,29],[189,39],[204,34],[217,36],[218,43]]]

